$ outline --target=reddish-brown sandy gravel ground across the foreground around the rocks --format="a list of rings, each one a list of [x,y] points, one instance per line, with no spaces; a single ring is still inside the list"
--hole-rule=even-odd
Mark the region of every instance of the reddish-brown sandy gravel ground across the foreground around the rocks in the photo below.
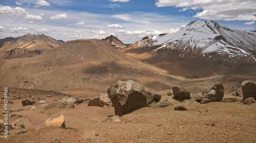
[[[1,88],[2,90],[3,88]],[[2,91],[1,91],[2,92]],[[110,120],[114,116],[113,107],[87,107],[84,102],[68,109],[43,109],[49,102],[60,101],[65,95],[42,90],[10,89],[9,98],[20,95],[19,100],[9,104],[13,110],[9,118],[13,122],[25,118],[30,126],[25,133],[14,135],[15,129],[9,133],[9,139],[0,138],[0,143],[255,143],[256,142],[256,104],[214,102],[188,104],[187,111],[173,110],[179,104],[172,96],[163,95],[170,103],[169,107],[143,107],[120,117],[121,122]],[[62,91],[83,97],[95,96],[96,91]],[[88,94],[89,93],[89,94]],[[32,95],[29,97],[29,95]],[[47,97],[52,95],[52,97]],[[45,100],[45,104],[22,107],[21,101],[32,99],[37,103]],[[32,110],[31,107],[37,109]],[[17,111],[24,109],[23,111]],[[0,104],[3,111],[3,103]],[[44,127],[48,118],[63,114],[66,127]],[[0,119],[3,120],[3,117]]]

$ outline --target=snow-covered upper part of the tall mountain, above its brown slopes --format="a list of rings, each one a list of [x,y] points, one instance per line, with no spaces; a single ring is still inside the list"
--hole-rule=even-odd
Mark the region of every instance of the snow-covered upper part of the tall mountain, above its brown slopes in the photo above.
[[[146,36],[128,46],[144,48],[158,45],[162,48],[180,48],[183,53],[193,51],[207,54],[218,53],[229,56],[251,56],[256,51],[256,32],[230,29],[214,21],[193,21],[173,34]]]

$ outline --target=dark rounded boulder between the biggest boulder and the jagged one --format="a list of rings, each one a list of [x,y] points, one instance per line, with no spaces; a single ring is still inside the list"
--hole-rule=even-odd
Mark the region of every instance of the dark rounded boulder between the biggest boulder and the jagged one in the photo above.
[[[179,99],[190,98],[190,91],[182,86],[175,85],[174,87],[172,87],[172,91],[173,91],[174,97],[176,98],[179,98]]]

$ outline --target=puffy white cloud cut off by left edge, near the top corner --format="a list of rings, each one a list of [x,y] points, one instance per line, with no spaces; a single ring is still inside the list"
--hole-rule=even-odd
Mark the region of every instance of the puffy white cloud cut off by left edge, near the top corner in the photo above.
[[[28,11],[24,8],[16,7],[16,8],[11,8],[10,6],[2,6],[0,5],[0,14],[4,15],[23,15],[27,14]]]

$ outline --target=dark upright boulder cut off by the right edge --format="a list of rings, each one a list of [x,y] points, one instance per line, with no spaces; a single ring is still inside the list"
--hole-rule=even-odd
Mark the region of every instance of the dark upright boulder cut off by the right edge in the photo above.
[[[256,81],[247,80],[242,82],[243,98],[253,97],[256,99]]]

